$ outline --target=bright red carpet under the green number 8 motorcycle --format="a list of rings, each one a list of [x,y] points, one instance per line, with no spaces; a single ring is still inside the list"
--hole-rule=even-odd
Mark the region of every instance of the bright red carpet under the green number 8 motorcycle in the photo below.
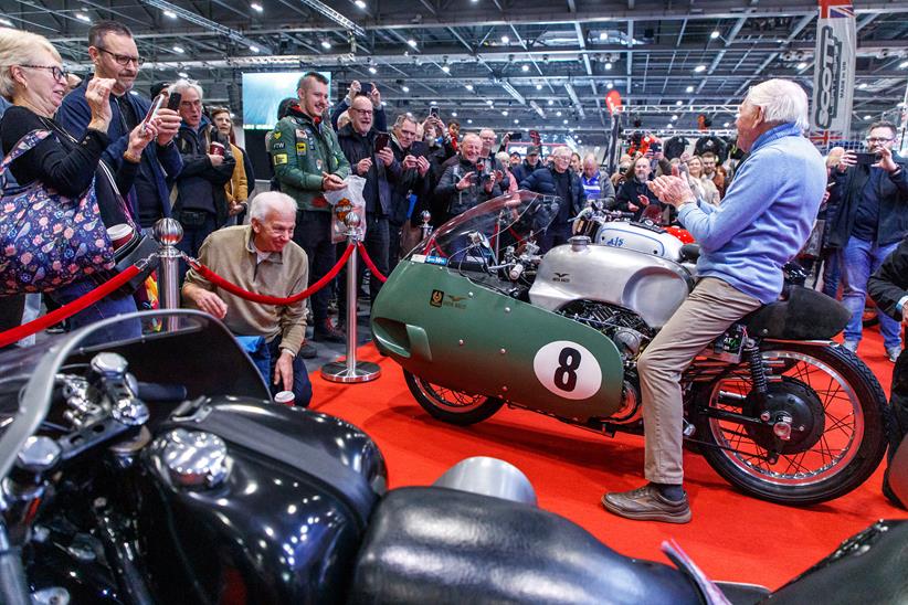
[[[859,350],[888,393],[893,364],[876,331]],[[416,404],[400,367],[371,346],[379,380],[341,385],[313,374],[313,408],[363,428],[388,461],[391,487],[429,485],[471,456],[507,460],[529,477],[539,506],[579,523],[622,554],[665,561],[658,548],[675,538],[712,579],[775,588],[880,518],[908,518],[881,492],[883,466],[852,493],[809,509],[763,502],[735,491],[697,455],[685,454],[685,487],[694,509],[686,526],[627,521],[605,512],[602,492],[643,482],[643,438],[608,438],[530,412],[507,410],[461,428],[433,420]]]

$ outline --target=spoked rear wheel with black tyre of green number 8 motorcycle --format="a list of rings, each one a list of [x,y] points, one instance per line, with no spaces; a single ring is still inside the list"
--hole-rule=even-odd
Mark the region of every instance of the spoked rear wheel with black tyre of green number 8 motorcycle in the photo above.
[[[748,405],[733,401],[751,388],[749,373],[736,370],[693,395],[696,438],[731,448],[705,445],[701,452],[706,460],[735,487],[780,505],[816,505],[857,488],[876,470],[887,446],[889,408],[874,373],[844,347],[764,343],[762,354],[764,360],[781,361],[770,369],[783,374],[782,381],[769,385],[780,393],[775,401],[788,405],[792,393],[796,401],[807,402],[798,408],[801,420],[793,423],[804,431],[793,433],[792,445],[786,446],[792,450],[783,450],[778,461],[770,464],[760,457],[767,452],[761,443],[769,443],[769,429],[705,413],[707,407],[741,413]],[[719,402],[720,392],[724,402]]]

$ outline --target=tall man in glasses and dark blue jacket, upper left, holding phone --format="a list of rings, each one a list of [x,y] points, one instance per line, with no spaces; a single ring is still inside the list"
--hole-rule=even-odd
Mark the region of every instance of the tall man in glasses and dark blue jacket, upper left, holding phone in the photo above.
[[[130,94],[142,59],[138,54],[133,33],[123,23],[98,21],[88,30],[88,56],[95,67],[93,77],[114,79],[110,95],[113,118],[107,129],[110,145],[104,160],[116,172],[129,144],[129,132],[148,114],[151,102]],[[57,121],[68,132],[81,138],[92,119],[85,91],[91,77],[66,95],[56,114]],[[165,104],[157,113],[158,137],[141,153],[139,171],[133,189],[123,191],[133,216],[142,229],[150,229],[165,216],[170,216],[170,187],[182,170],[182,160],[173,138],[180,128],[180,115]]]

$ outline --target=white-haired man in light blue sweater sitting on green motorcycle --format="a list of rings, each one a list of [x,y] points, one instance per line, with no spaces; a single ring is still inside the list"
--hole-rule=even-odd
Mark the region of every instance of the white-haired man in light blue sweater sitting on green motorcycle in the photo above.
[[[658,177],[650,185],[678,209],[701,255],[697,286],[637,363],[650,482],[602,497],[606,510],[629,519],[690,520],[683,488],[682,373],[735,321],[778,299],[782,265],[807,238],[825,191],[823,158],[804,138],[807,96],[799,85],[770,79],[753,86],[736,126],[738,146],[750,156],[719,206],[695,199],[678,177]]]

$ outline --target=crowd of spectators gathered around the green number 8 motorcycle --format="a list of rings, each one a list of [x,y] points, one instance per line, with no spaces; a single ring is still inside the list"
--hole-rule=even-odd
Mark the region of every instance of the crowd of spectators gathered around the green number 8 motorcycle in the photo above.
[[[294,274],[297,285],[300,275],[304,282],[315,282],[335,265],[337,245],[331,241],[331,205],[325,193],[342,189],[351,174],[366,181],[367,252],[378,272],[388,274],[409,252],[408,242],[413,241],[423,210],[429,210],[432,222],[439,225],[518,189],[558,195],[562,200],[560,211],[541,235],[541,248],[547,251],[568,241],[571,219],[592,201],[605,209],[633,213],[638,220],[675,222],[675,209],[661,203],[647,184],[662,174],[684,176],[698,200],[719,205],[740,161],[740,157],[727,153],[725,144],[715,137],[706,136],[694,146],[674,137],[665,141],[666,153],[662,141],[641,132],[629,155],[620,158],[617,170],[603,173],[602,158],[581,157],[564,146],[550,146],[543,155],[546,146],[538,140],[515,147],[511,134],[500,134],[499,141],[499,134],[489,128],[462,130],[454,119],[445,123],[435,107],[424,115],[389,116],[377,83],[352,82],[331,107],[327,81],[317,73],[307,73],[299,79],[297,97],[281,104],[279,121],[266,137],[273,171],[271,189],[283,195],[279,201],[272,200],[267,211],[256,212],[249,204],[255,174],[249,153],[236,144],[229,108],[205,107],[202,87],[180,79],[166,85],[162,93],[168,99],[179,95],[179,104],[165,106],[144,127],[151,100],[133,91],[142,59],[129,30],[116,22],[96,23],[87,44],[94,73],[74,82],[46,39],[0,30],[0,103],[11,104],[0,123],[4,155],[32,130],[52,132],[13,162],[12,177],[23,184],[39,180],[73,195],[94,180],[106,226],[135,223],[148,231],[158,220],[172,216],[183,227],[180,248],[192,256],[205,256],[205,243],[212,234],[224,229],[241,230],[223,236],[239,246],[231,254],[249,254],[257,263],[287,254],[295,262],[305,258],[305,274]],[[908,185],[904,160],[890,152],[894,138],[891,125],[876,125],[867,142],[873,152],[881,156],[877,164],[856,166],[851,152],[831,164],[832,197],[824,206],[828,214],[824,265],[833,284],[841,265],[845,301],[855,318],[858,307],[863,309],[868,276],[908,232]],[[691,147],[693,153],[687,151]],[[113,184],[101,177],[104,167],[115,176]],[[118,202],[117,191],[125,203]],[[293,216],[287,215],[287,200],[293,201]],[[275,230],[286,232],[289,223],[292,237],[279,241]],[[254,266],[250,272],[243,275],[255,275]],[[198,275],[188,284],[188,304],[217,310],[215,315],[226,317],[239,336],[265,338],[277,360],[291,355],[272,364],[272,371],[277,372],[275,382],[293,383],[285,380],[287,363],[295,363],[296,355],[314,352],[299,336],[305,333],[298,325],[304,322],[305,328],[305,314],[297,308],[292,316],[272,317],[255,315],[245,306],[232,314],[229,307],[236,300],[221,297],[220,305],[215,305],[199,288],[215,295],[217,288],[209,288],[210,284]],[[87,278],[76,280],[47,293],[47,304],[65,304],[94,285]],[[283,287],[286,284],[250,285],[288,294]],[[372,275],[368,296],[374,299],[380,287],[378,276]],[[342,289],[326,288],[312,297],[314,340],[340,342],[346,338],[342,321],[330,318],[332,296],[341,301],[342,311]],[[20,323],[23,305],[24,296],[0,299],[0,328]],[[71,327],[135,309],[133,297],[110,296],[76,315]],[[230,318],[235,317],[243,320],[231,323]],[[249,321],[250,317],[256,317],[256,321]],[[297,323],[285,326],[287,317]],[[897,326],[887,319],[883,331],[893,357],[901,343]],[[136,329],[127,326],[115,336],[135,336]],[[859,338],[859,323],[854,319],[846,331],[846,346],[856,347]],[[278,350],[274,342],[288,344]],[[302,371],[298,364],[294,368]]]

